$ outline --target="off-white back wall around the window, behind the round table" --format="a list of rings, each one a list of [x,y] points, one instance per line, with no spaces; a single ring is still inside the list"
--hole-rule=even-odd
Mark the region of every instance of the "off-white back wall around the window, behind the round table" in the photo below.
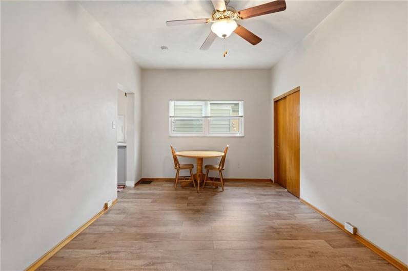
[[[270,178],[270,71],[142,70],[141,79],[143,177],[174,177],[170,144],[176,151],[222,151],[229,144],[226,178]],[[169,137],[169,101],[177,99],[243,100],[245,137]]]

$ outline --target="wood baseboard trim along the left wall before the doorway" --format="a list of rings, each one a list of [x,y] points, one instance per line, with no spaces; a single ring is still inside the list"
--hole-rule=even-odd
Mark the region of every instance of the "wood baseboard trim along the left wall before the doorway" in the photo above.
[[[114,206],[117,202],[117,198],[112,201],[112,205],[109,208],[102,209],[99,213],[94,215],[90,220],[85,222],[85,224],[81,225],[78,229],[76,229],[71,235],[66,237],[64,240],[60,241],[56,246],[54,246],[51,250],[49,250],[46,254],[44,254],[41,258],[36,260],[30,266],[28,266],[25,270],[26,271],[34,271],[41,265],[43,265],[49,258],[51,258],[55,253],[57,253],[60,249],[62,249],[66,244],[68,244],[72,239],[74,239],[78,234],[83,232],[86,228],[89,227],[96,219],[98,219],[101,215],[103,215],[106,211],[108,211],[112,206]]]

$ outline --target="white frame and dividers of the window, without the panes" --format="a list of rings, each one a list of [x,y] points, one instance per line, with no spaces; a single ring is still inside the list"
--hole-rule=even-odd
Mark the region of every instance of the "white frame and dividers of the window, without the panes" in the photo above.
[[[186,101],[197,102],[203,104],[201,117],[182,117],[174,116],[174,102]],[[239,103],[238,116],[231,117],[212,117],[210,115],[210,103]],[[202,119],[204,129],[202,133],[175,133],[172,130],[172,122],[174,118],[180,119]],[[210,119],[239,119],[240,131],[238,133],[210,133],[209,132],[209,120]],[[169,101],[169,136],[170,137],[244,137],[244,118],[243,118],[243,101],[242,100],[170,100]]]

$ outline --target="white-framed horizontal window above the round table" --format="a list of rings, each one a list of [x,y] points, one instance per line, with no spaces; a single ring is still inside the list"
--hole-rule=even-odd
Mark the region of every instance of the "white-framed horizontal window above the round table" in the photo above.
[[[243,101],[170,101],[171,137],[243,137]]]

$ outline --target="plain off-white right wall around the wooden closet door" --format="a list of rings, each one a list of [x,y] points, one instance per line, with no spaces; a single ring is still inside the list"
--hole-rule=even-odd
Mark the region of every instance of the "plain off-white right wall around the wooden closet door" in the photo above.
[[[345,1],[272,69],[300,85],[300,196],[407,263],[406,2]]]

